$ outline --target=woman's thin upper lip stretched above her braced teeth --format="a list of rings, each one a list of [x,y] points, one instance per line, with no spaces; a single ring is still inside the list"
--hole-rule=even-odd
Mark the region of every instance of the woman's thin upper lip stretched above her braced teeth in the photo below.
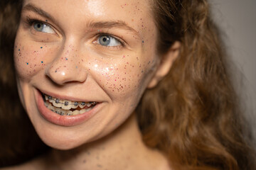
[[[90,100],[89,98],[85,99],[85,98],[75,98],[73,96],[65,96],[65,95],[60,95],[60,94],[54,94],[50,91],[44,91],[44,90],[41,90],[41,89],[38,89],[38,91],[40,91],[42,94],[46,94],[47,96],[52,96],[54,98],[58,98],[60,100],[63,100],[63,101],[82,101],[82,102],[97,102],[97,103],[100,103],[100,101],[97,101],[95,99],[92,99]]]

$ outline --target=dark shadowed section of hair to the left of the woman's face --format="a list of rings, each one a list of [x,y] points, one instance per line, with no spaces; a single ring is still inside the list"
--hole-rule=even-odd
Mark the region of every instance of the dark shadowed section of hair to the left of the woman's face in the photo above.
[[[26,162],[48,149],[18,98],[13,49],[20,13],[20,1],[0,1],[0,167]]]

